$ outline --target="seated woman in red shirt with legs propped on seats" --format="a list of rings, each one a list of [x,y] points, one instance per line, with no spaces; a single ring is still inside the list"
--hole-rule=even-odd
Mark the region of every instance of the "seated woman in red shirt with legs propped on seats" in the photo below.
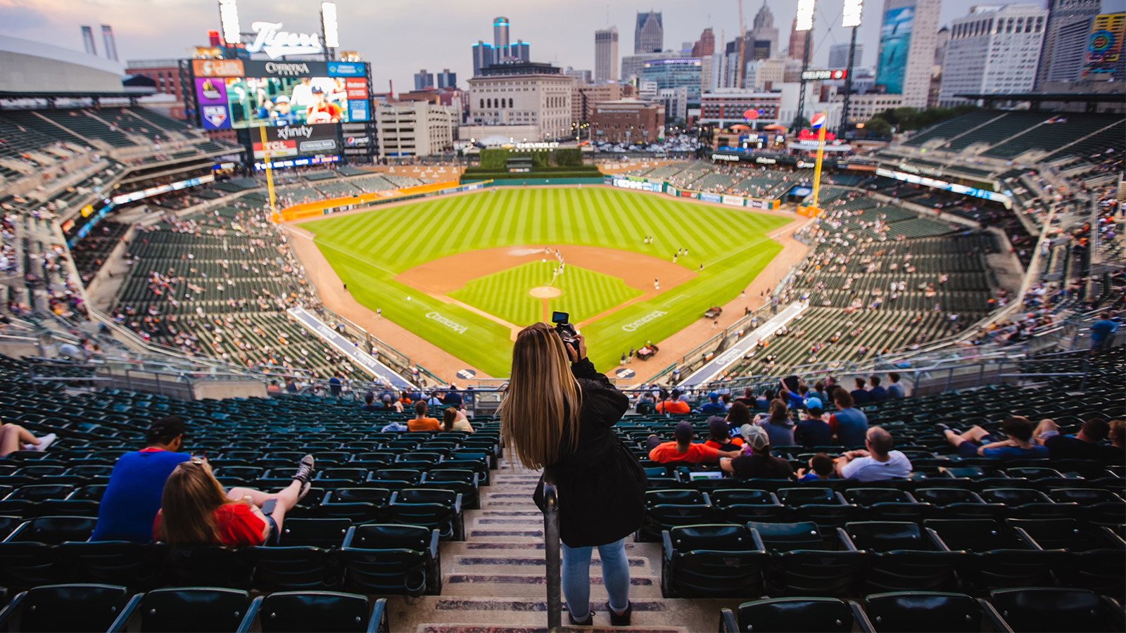
[[[275,493],[250,488],[223,490],[206,460],[176,466],[164,482],[152,533],[170,545],[265,545],[277,543],[285,515],[309,493],[313,456],[305,455],[293,482]]]

